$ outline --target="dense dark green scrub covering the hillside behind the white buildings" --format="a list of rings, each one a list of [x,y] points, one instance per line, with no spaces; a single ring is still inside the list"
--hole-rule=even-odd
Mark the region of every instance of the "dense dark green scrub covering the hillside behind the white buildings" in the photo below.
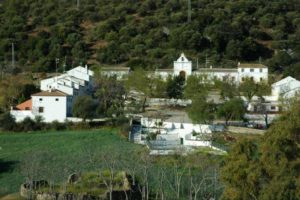
[[[79,63],[167,67],[180,51],[194,63],[262,62],[300,78],[297,0],[4,0],[0,62],[8,72]],[[11,67],[11,43],[17,64]],[[61,69],[62,70],[62,69]]]

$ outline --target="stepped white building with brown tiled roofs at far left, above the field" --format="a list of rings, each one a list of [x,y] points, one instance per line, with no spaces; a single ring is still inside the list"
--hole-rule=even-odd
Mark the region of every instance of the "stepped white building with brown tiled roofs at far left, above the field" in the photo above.
[[[93,72],[85,67],[76,67],[66,73],[41,81],[42,92],[32,94],[31,99],[12,108],[16,121],[26,117],[41,116],[45,122],[64,122],[72,115],[76,97],[89,94],[93,87]]]

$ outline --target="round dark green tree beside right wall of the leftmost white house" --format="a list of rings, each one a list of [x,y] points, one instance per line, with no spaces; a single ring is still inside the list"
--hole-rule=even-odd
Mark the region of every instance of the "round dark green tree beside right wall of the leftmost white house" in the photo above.
[[[90,96],[79,96],[76,98],[73,105],[73,115],[81,117],[83,121],[91,119],[96,115],[97,104]]]

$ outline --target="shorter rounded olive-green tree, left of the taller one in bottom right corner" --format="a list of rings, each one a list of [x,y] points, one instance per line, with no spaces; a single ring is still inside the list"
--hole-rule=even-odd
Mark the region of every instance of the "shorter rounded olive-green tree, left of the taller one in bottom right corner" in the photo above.
[[[258,199],[261,174],[257,152],[257,146],[249,140],[239,141],[231,149],[221,169],[223,199]]]

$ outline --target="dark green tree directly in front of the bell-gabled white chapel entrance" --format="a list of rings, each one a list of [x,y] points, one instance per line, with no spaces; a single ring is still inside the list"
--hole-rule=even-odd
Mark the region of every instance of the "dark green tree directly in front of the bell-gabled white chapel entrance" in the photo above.
[[[167,94],[169,98],[180,99],[183,96],[183,87],[185,77],[174,76],[169,77],[167,80]]]

